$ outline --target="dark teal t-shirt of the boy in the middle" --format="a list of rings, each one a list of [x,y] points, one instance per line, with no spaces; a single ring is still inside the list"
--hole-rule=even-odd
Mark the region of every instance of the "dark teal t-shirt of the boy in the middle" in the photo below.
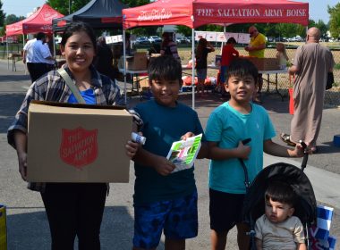
[[[197,112],[177,103],[175,107],[157,104],[155,100],[138,104],[135,111],[144,122],[144,149],[152,154],[165,156],[174,141],[186,132],[203,133]],[[150,204],[190,195],[196,190],[193,168],[162,176],[149,166],[134,164],[136,180],[133,200],[135,204]]]

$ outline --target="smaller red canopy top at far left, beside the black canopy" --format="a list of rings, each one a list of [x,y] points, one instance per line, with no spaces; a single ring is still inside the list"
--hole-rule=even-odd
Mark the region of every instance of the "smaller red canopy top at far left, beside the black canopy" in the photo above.
[[[52,20],[61,17],[64,17],[64,15],[55,11],[48,4],[44,4],[27,19],[6,25],[6,35],[13,36],[38,32],[52,33]]]

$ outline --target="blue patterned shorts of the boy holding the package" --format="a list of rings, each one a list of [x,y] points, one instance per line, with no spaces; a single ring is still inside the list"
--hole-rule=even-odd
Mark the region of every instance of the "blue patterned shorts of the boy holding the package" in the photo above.
[[[163,229],[164,235],[171,239],[197,236],[197,191],[171,201],[134,205],[134,247],[157,247]]]

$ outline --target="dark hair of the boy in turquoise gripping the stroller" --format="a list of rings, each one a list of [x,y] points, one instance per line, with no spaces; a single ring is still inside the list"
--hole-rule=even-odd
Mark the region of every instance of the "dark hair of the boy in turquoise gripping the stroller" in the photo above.
[[[247,59],[235,58],[232,61],[232,63],[230,63],[230,66],[228,67],[226,73],[227,73],[227,79],[229,79],[229,77],[231,76],[242,78],[242,77],[251,75],[255,81],[255,84],[258,83],[259,71],[255,67],[255,65]],[[228,82],[227,79],[225,83]]]

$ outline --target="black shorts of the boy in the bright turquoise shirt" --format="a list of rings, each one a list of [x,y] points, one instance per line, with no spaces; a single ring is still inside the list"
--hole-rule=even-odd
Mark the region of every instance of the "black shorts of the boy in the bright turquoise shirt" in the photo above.
[[[210,229],[229,231],[242,222],[244,195],[229,194],[209,188]]]

